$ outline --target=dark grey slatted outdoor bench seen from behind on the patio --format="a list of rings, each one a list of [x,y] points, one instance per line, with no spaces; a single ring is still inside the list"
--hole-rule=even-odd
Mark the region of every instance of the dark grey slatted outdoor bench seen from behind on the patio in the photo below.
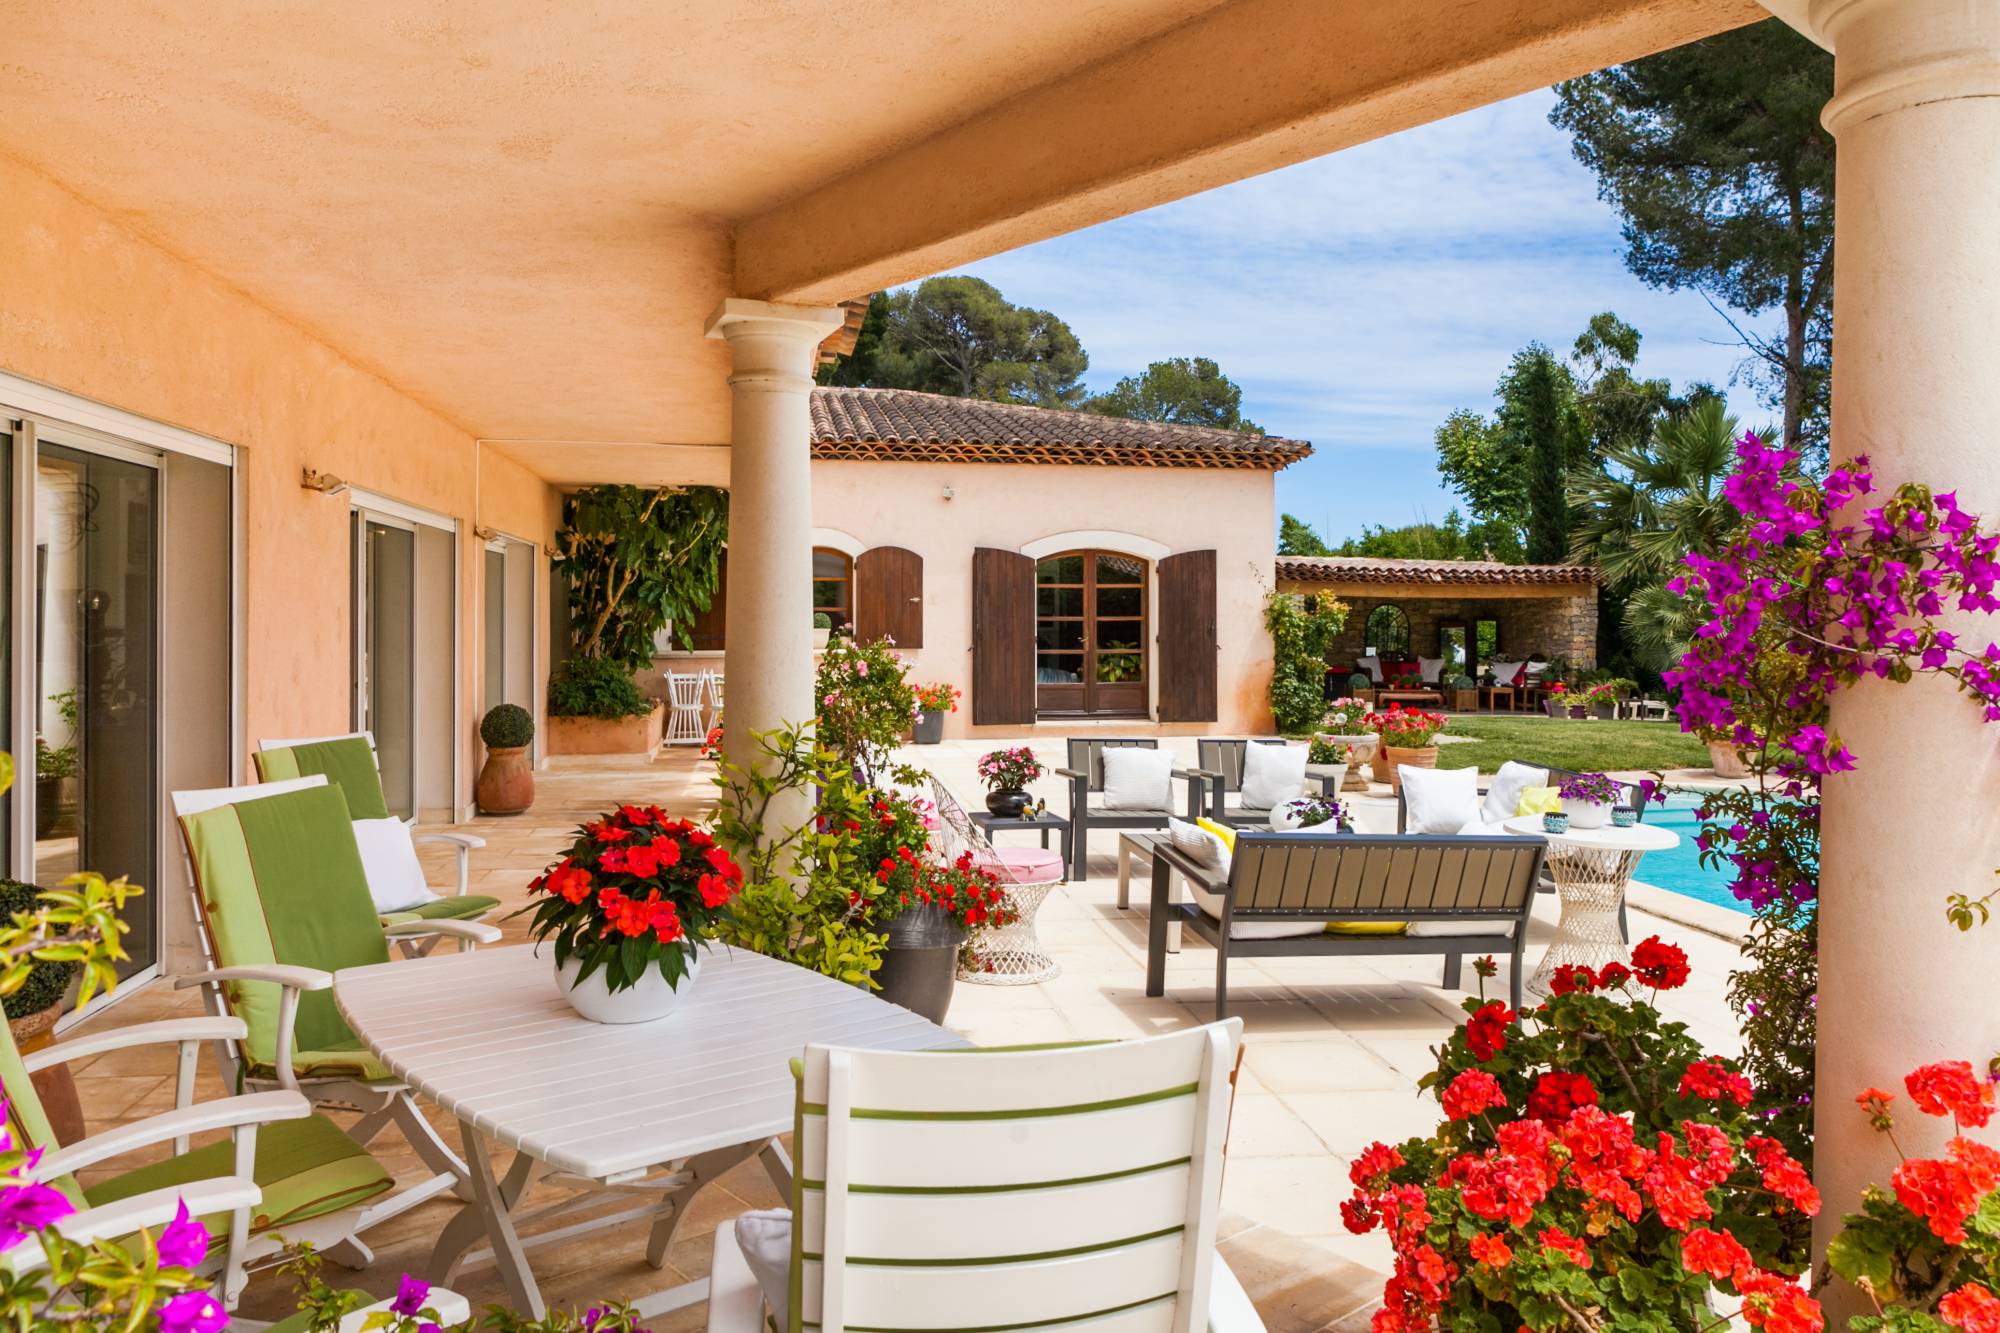
[[[1508,987],[1520,1009],[1542,847],[1530,837],[1238,833],[1228,871],[1180,847],[1158,847],[1146,995],[1166,995],[1166,923],[1178,913],[1186,929],[1216,947],[1218,1019],[1228,1015],[1230,955],[1442,953],[1444,985],[1458,989],[1462,955],[1504,953],[1514,959]],[[1190,903],[1168,901],[1172,873],[1188,881]],[[1320,929],[1278,939],[1244,931],[1282,923]],[[1382,933],[1396,923],[1408,929]]]

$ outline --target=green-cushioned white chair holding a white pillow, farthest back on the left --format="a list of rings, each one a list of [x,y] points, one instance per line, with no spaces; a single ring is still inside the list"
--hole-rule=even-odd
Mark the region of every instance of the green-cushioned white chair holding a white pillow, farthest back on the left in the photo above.
[[[368,867],[368,891],[382,915],[382,925],[406,921],[484,921],[500,907],[500,899],[466,893],[472,881],[472,851],[486,839],[472,833],[414,833],[412,821],[388,813],[382,795],[382,769],[376,763],[374,737],[366,731],[344,737],[312,737],[302,741],[258,741],[258,779],[282,783],[320,775],[340,787],[354,819],[354,839]],[[458,855],[458,887],[438,891],[424,883],[424,867],[416,847],[430,843],[450,847]],[[408,957],[422,957],[438,945],[436,935],[398,941]]]

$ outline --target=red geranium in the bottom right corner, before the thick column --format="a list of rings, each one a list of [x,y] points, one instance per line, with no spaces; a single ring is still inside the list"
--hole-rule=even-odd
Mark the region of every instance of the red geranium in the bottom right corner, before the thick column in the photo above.
[[[1994,1117],[1994,1083],[1966,1061],[1914,1069],[1904,1081],[1924,1115],[1952,1121],[1944,1157],[1904,1157],[1888,1107],[1894,1093],[1864,1089],[1854,1101],[1896,1145],[1890,1187],[1870,1185],[1862,1211],[1842,1221],[1826,1263],[1874,1305],[1848,1327],[2000,1333],[2000,1153],[1966,1139]]]

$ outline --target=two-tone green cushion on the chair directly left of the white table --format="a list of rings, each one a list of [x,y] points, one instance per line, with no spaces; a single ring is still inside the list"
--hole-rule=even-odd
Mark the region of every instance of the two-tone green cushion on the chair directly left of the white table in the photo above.
[[[338,787],[220,805],[182,817],[180,829],[218,965],[288,963],[338,973],[388,963],[388,941]],[[230,1011],[250,1029],[248,1063],[270,1067],[278,1053],[280,987],[232,981],[226,995]],[[298,999],[294,1051],[354,1047],[332,991]]]

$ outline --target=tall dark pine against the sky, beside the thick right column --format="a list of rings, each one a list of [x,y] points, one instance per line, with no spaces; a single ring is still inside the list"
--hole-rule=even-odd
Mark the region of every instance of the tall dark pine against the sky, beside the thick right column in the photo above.
[[[1736,324],[1786,448],[1824,456],[1834,300],[1834,58],[1768,18],[1556,86],[1550,120],[1624,214],[1626,266]],[[1734,324],[1734,320],[1732,320]]]

